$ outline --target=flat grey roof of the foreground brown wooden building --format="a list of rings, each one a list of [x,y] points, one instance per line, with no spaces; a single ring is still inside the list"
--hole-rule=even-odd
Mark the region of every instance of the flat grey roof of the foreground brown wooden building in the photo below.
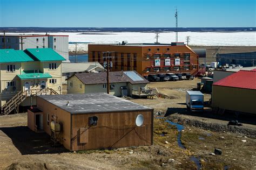
[[[153,110],[106,93],[37,96],[70,114]],[[69,102],[69,105],[66,105]]]

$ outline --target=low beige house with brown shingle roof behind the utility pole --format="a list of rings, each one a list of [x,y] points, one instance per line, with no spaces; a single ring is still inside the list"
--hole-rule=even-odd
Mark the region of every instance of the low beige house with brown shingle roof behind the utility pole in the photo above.
[[[153,95],[152,91],[150,91],[148,87],[150,82],[136,71],[110,72],[109,76],[111,95],[139,95],[138,97],[142,97],[142,95]],[[68,94],[107,93],[106,77],[106,72],[74,74],[67,79]]]

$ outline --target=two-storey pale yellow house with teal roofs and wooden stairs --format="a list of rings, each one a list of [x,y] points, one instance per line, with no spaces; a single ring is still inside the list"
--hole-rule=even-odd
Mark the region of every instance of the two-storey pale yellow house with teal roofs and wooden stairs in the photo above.
[[[36,95],[62,94],[61,55],[51,48],[0,49],[2,114],[36,104]]]

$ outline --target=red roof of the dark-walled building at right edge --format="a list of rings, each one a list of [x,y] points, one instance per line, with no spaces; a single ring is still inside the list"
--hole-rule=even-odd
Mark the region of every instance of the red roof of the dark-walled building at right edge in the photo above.
[[[213,85],[256,90],[256,71],[240,70],[213,83]]]

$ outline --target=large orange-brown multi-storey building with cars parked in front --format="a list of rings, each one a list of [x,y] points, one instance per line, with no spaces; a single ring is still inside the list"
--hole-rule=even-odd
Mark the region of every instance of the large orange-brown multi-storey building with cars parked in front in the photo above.
[[[184,42],[172,44],[89,44],[89,61],[104,63],[113,56],[112,70],[136,70],[141,75],[198,72],[199,56]]]

